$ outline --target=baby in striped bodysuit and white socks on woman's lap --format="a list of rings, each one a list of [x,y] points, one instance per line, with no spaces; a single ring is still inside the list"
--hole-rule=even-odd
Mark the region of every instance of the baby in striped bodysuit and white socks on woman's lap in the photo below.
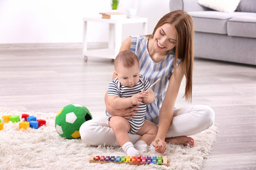
[[[139,154],[138,150],[145,150],[156,137],[157,127],[149,120],[145,120],[146,103],[155,99],[154,91],[149,89],[149,81],[139,74],[139,60],[137,55],[129,50],[119,52],[114,60],[114,73],[117,78],[109,84],[107,99],[115,109],[131,108],[139,105],[133,118],[122,116],[110,117],[110,127],[114,130],[117,142],[129,156]],[[142,135],[132,144],[129,133]]]

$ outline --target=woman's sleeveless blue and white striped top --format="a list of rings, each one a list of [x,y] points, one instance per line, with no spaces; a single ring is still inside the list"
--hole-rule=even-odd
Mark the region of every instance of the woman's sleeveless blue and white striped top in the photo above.
[[[146,119],[158,124],[159,109],[164,101],[171,74],[174,72],[174,52],[170,50],[164,60],[156,63],[151,60],[149,51],[147,50],[149,38],[142,35],[131,36],[131,38],[130,51],[134,52],[139,58],[140,74],[144,75],[150,84],[154,84],[159,78],[161,79],[152,87],[156,95],[155,101],[147,104],[146,107]],[[180,62],[181,59],[178,58],[177,66]]]

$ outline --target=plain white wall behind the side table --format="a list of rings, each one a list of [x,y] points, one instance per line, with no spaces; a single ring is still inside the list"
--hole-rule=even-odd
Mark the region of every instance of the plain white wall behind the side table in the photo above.
[[[169,0],[120,0],[120,12],[134,7],[148,18],[151,33],[169,12]],[[110,0],[0,0],[0,44],[82,42],[82,18],[106,11]],[[139,26],[125,26],[124,38],[138,34]],[[89,23],[88,42],[107,41],[107,30],[103,23]]]

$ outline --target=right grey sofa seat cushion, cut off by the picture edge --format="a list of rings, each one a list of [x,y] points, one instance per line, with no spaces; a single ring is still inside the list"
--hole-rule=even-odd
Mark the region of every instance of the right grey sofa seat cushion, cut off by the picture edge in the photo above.
[[[256,13],[231,18],[227,28],[230,36],[256,38]]]

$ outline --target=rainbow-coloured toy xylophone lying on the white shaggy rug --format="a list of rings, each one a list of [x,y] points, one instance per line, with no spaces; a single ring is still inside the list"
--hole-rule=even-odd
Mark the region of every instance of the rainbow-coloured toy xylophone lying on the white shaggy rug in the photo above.
[[[90,163],[100,163],[100,164],[107,164],[107,163],[114,163],[114,164],[133,164],[133,165],[143,165],[143,164],[158,164],[158,165],[165,165],[169,166],[169,162],[166,156],[133,156],[132,158],[130,156],[127,157],[114,157],[114,156],[90,156],[89,159]]]

